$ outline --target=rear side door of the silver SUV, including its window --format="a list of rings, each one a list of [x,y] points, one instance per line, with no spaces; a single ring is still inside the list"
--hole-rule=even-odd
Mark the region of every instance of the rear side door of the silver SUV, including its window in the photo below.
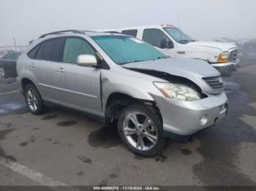
[[[37,82],[39,92],[44,99],[61,103],[61,87],[64,77],[59,71],[61,43],[64,38],[48,39],[39,44],[34,59],[30,63],[31,78]]]

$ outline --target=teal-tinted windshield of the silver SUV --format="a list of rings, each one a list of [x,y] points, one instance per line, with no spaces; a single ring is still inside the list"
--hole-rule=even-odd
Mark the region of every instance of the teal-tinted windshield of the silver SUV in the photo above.
[[[91,38],[119,65],[169,58],[150,44],[131,36],[92,36]]]

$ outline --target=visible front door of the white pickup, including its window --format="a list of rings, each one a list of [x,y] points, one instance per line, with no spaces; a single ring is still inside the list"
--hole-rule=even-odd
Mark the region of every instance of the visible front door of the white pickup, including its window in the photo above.
[[[146,28],[143,30],[142,40],[148,42],[158,50],[170,57],[176,57],[173,41],[159,28]]]

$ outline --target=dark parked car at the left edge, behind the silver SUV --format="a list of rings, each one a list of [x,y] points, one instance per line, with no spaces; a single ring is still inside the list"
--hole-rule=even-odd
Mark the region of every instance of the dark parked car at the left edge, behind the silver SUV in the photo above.
[[[0,78],[17,77],[16,61],[21,52],[9,52],[0,59]]]

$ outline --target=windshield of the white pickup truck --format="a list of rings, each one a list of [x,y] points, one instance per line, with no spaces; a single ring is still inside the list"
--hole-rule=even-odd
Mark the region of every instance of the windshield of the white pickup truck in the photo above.
[[[164,30],[167,34],[173,37],[176,42],[181,44],[187,44],[189,42],[195,42],[195,40],[191,39],[187,34],[184,34],[179,28],[176,27],[164,27]]]

